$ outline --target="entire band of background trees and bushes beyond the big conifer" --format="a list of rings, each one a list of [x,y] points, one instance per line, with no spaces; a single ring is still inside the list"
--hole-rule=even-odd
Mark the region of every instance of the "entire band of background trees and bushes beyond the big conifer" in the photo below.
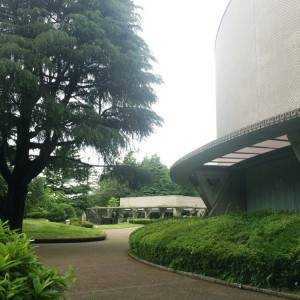
[[[76,158],[75,152],[73,157]],[[74,160],[75,161],[75,160]],[[28,186],[25,217],[62,221],[80,217],[93,206],[118,206],[121,197],[186,195],[196,196],[170,179],[169,169],[157,155],[141,162],[130,152],[111,170],[92,182],[90,168],[78,169],[74,161],[56,163]],[[56,161],[57,162],[57,161]],[[0,176],[0,195],[7,185]]]

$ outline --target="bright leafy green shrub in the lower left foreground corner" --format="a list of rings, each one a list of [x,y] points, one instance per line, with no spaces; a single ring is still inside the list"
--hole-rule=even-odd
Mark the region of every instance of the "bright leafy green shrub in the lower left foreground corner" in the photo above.
[[[26,235],[0,221],[0,299],[60,299],[72,279],[71,266],[64,275],[46,269]]]

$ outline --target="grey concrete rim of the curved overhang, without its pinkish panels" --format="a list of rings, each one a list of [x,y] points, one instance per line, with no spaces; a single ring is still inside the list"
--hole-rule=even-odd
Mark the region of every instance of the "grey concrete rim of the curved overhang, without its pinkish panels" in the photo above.
[[[170,176],[176,183],[193,187],[191,174],[199,169],[231,169],[233,167],[205,166],[216,158],[239,149],[273,139],[300,129],[300,109],[275,116],[259,123],[241,128],[222,136],[179,159],[170,169]]]

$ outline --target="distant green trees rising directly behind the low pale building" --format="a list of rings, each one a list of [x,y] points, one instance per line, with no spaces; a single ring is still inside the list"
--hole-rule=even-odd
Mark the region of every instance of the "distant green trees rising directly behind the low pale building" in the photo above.
[[[111,197],[161,195],[197,196],[196,191],[180,187],[171,180],[168,167],[157,155],[137,162],[133,152],[129,152],[123,162],[102,174],[99,187],[89,197],[97,206],[106,206]]]

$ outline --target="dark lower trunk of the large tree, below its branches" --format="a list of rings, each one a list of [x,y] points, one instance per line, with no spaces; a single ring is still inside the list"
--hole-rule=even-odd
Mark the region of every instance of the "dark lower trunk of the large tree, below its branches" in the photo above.
[[[1,219],[9,221],[10,229],[22,232],[27,186],[13,184],[8,186],[7,196],[2,198]]]

